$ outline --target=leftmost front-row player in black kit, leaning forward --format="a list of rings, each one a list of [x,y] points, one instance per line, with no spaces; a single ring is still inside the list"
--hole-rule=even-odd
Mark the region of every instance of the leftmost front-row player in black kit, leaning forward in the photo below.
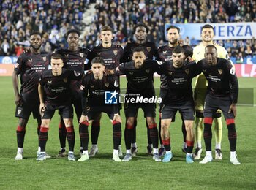
[[[72,80],[81,80],[83,75],[77,71],[63,69],[63,57],[60,54],[53,53],[50,58],[50,64],[52,69],[42,72],[38,85],[42,126],[39,132],[41,151],[37,156],[37,161],[46,159],[45,145],[48,140],[50,120],[53,118],[55,110],[59,110],[67,129],[68,160],[75,161],[75,132],[72,123],[73,107],[72,97],[69,96],[71,94],[69,86]]]

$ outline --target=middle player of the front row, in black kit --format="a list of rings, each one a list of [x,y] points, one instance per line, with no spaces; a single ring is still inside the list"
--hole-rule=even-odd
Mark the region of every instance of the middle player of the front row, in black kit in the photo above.
[[[152,99],[154,92],[154,72],[157,72],[157,61],[146,61],[146,55],[142,47],[133,49],[132,61],[120,64],[115,70],[116,75],[126,75],[127,93],[125,99]],[[153,143],[153,159],[161,161],[158,154],[158,132],[155,122],[155,103],[154,102],[125,102],[124,111],[126,115],[126,127],[124,131],[124,140],[127,153],[123,161],[132,159],[131,142],[135,118],[138,115],[138,109],[143,109],[144,117],[148,123],[148,130]]]

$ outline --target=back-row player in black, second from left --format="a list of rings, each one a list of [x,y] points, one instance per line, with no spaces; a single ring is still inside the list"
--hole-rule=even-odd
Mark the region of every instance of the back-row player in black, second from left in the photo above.
[[[76,72],[80,72],[81,74],[84,73],[85,70],[90,69],[89,64],[87,64],[87,60],[90,59],[90,51],[86,48],[79,47],[79,37],[80,32],[71,29],[67,31],[65,34],[67,39],[68,48],[61,49],[56,51],[56,53],[60,54],[63,57],[64,61],[64,68],[69,70],[74,70]],[[82,114],[82,105],[81,105],[81,90],[80,84],[82,80],[71,80],[70,88],[72,92],[72,104],[75,108],[75,113],[77,115],[77,120],[79,123],[80,116]],[[80,128],[79,128],[80,129]],[[59,123],[59,141],[61,145],[61,151],[57,157],[66,156],[66,137],[67,137],[67,130],[64,124],[63,119]],[[83,151],[83,148],[80,146],[80,152]]]

